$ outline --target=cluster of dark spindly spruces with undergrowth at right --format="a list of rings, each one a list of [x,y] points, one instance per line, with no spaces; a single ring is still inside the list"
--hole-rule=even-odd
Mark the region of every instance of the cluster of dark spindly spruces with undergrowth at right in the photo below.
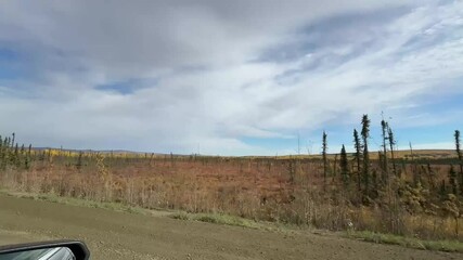
[[[447,159],[450,162],[446,167],[447,174],[438,176],[432,167],[433,160],[416,159],[412,144],[410,143],[410,159],[397,159],[396,140],[393,128],[384,119],[381,121],[382,145],[377,151],[377,161],[373,164],[370,158],[372,151],[369,147],[371,120],[363,115],[360,133],[353,129],[352,142],[355,152],[349,156],[343,144],[337,160],[333,168],[339,169],[339,180],[345,192],[351,194],[351,202],[363,205],[384,205],[390,196],[408,203],[416,203],[421,210],[446,207],[455,218],[463,216],[463,156],[461,151],[460,131],[455,130],[453,138],[455,144],[455,159]],[[331,171],[331,164],[326,157],[327,133],[322,135],[323,178],[326,185]],[[326,188],[326,187],[325,187]],[[388,198],[385,198],[388,196]],[[416,202],[408,202],[409,197]],[[390,202],[389,202],[390,203]],[[451,204],[451,205],[450,205]],[[437,206],[440,205],[441,207]],[[450,206],[449,206],[450,205]],[[459,209],[460,208],[460,209]],[[449,211],[449,210],[447,210]]]

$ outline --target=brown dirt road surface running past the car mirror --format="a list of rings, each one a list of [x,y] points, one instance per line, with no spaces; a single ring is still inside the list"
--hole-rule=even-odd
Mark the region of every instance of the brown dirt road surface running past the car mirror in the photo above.
[[[0,195],[0,244],[76,238],[92,259],[463,259],[335,235],[250,230]]]

